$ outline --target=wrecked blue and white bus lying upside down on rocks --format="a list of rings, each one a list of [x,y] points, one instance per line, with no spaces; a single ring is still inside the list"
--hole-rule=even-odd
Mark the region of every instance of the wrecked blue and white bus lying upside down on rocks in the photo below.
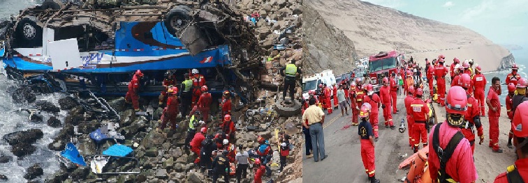
[[[212,93],[251,100],[261,48],[242,15],[225,3],[158,2],[101,6],[56,3],[21,10],[0,23],[6,74],[52,90],[124,95],[135,70],[140,95],[159,95],[163,74],[198,69]]]

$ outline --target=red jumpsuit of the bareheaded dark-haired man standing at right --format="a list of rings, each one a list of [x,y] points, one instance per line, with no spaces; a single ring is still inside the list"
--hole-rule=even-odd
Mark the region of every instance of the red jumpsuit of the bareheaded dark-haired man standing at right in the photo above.
[[[490,90],[487,91],[487,99],[490,100],[492,106],[497,108],[497,111],[493,109],[487,110],[487,116],[490,119],[490,146],[493,150],[499,150],[499,117],[501,116],[501,103],[499,102],[499,95],[490,86]]]

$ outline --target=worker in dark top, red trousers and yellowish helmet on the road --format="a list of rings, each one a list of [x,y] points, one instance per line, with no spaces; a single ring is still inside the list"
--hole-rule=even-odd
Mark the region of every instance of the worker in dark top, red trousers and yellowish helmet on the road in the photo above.
[[[361,142],[361,160],[363,161],[363,166],[365,166],[365,172],[369,176],[369,181],[371,183],[379,183],[379,180],[376,179],[374,133],[372,132],[372,125],[368,122],[370,109],[370,104],[365,103],[361,106],[359,114],[361,122],[358,127],[358,135]]]

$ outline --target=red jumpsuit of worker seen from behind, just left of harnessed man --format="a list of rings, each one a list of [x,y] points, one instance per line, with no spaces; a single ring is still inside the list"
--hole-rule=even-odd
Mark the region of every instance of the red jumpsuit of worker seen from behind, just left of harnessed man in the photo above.
[[[412,118],[414,120],[413,125],[413,139],[414,139],[414,150],[418,152],[418,145],[420,145],[420,137],[422,138],[423,147],[427,146],[427,129],[425,125],[427,123],[427,115],[429,115],[429,107],[422,99],[416,98],[411,103]]]

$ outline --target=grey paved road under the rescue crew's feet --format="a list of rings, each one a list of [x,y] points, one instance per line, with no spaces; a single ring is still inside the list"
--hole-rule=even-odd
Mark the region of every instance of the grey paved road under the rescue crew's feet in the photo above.
[[[404,96],[398,95],[398,114],[393,114],[395,126],[399,126],[404,118]],[[335,110],[325,118],[324,135],[325,150],[328,158],[314,162],[313,158],[306,159],[303,150],[302,180],[303,182],[367,182],[368,177],[361,161],[358,127],[342,129],[351,123],[350,116],[341,116],[341,110]],[[406,170],[398,170],[402,161],[400,154],[413,154],[408,144],[407,132],[399,133],[397,129],[386,128],[383,111],[379,113],[379,141],[376,142],[376,178],[381,182],[397,182]],[[304,148],[304,146],[303,146]]]

